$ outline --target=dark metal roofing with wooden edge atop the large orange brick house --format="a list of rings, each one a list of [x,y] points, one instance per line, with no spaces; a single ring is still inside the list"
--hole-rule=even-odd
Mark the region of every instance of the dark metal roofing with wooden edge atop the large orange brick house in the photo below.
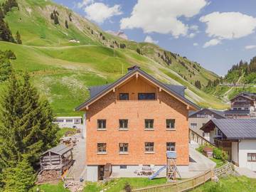
[[[118,85],[120,82],[122,82],[122,81],[126,80],[127,78],[131,77],[135,73],[139,73],[140,75],[144,76],[145,78],[148,78],[152,82],[156,83],[156,85],[159,85],[159,87],[164,88],[165,90],[170,92],[172,95],[174,95],[174,96],[178,97],[179,99],[183,100],[183,102],[186,102],[188,105],[191,105],[191,106],[195,107],[196,109],[200,109],[198,107],[198,105],[194,104],[190,100],[186,99],[186,97],[184,97],[184,95],[180,94],[181,93],[181,87],[178,87],[178,85],[171,85],[171,86],[166,85],[166,84],[160,82],[159,80],[156,80],[151,75],[149,75],[146,72],[144,72],[143,70],[141,70],[139,67],[134,67],[133,70],[130,70],[126,75],[124,75],[122,78],[119,78],[119,80],[113,82],[112,84],[105,85],[105,87],[94,87],[94,88],[92,88],[92,90],[93,90],[93,94],[91,94],[92,97],[90,97],[89,100],[82,103],[80,106],[76,107],[75,110],[76,111],[81,110],[83,107],[85,107],[86,105],[89,105],[91,102],[96,100],[97,97],[100,97],[100,95],[108,92],[109,90],[114,88],[116,85]],[[183,90],[185,90],[185,88],[186,87],[183,87]]]

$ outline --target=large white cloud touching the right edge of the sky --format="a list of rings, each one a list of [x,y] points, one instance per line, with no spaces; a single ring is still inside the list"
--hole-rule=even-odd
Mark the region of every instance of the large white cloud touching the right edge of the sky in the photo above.
[[[256,28],[256,18],[240,12],[213,12],[199,20],[206,23],[208,36],[219,39],[242,38]]]

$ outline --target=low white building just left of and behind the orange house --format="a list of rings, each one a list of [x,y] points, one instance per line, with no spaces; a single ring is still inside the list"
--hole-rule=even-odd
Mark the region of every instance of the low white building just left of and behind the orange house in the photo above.
[[[53,123],[58,124],[60,128],[70,127],[82,129],[82,117],[55,117]]]

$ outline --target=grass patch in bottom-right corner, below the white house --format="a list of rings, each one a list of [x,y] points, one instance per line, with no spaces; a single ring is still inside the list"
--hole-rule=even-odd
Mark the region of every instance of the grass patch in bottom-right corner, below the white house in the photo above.
[[[193,192],[251,192],[256,191],[256,179],[245,176],[228,176],[220,178],[218,183],[210,181]]]

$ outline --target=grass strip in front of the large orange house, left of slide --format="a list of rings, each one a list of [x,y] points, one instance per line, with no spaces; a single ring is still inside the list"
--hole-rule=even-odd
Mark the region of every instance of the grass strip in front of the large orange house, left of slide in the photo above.
[[[108,192],[122,191],[125,184],[129,183],[132,188],[142,188],[146,186],[153,186],[166,183],[166,178],[156,178],[149,180],[149,178],[117,178],[108,183],[87,183],[84,192],[98,192],[107,189]]]

